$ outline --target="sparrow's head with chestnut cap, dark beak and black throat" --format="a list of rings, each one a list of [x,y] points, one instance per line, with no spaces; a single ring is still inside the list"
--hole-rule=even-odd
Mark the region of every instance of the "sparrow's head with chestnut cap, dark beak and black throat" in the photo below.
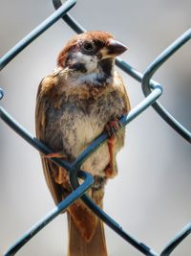
[[[58,67],[84,82],[105,82],[113,76],[115,58],[126,46],[107,32],[85,32],[75,35],[57,58]]]

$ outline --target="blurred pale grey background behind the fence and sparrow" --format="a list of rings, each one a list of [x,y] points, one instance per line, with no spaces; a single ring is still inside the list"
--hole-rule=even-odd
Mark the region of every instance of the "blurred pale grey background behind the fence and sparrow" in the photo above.
[[[143,72],[191,23],[190,0],[78,0],[74,17],[87,30],[106,30],[128,46],[121,57]],[[53,12],[51,0],[0,1],[0,55]],[[38,37],[1,72],[1,102],[34,134],[35,94],[74,32],[61,20]],[[170,58],[154,79],[164,87],[160,102],[191,128],[190,42]],[[122,72],[121,72],[122,73]],[[140,84],[124,73],[132,106],[144,99]],[[0,121],[0,255],[32,224],[53,209],[38,152]],[[126,147],[118,154],[119,173],[106,188],[105,211],[141,242],[161,251],[191,221],[190,145],[152,107],[127,127]],[[111,256],[142,255],[106,227]],[[67,250],[62,215],[18,255],[61,256]],[[191,238],[175,251],[191,254]]]

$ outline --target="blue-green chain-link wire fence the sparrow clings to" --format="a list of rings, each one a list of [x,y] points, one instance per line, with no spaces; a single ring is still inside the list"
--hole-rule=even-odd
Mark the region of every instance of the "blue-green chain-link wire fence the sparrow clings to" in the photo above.
[[[12,58],[16,57],[25,47],[27,47],[37,36],[42,35],[48,28],[50,28],[59,18],[63,18],[64,21],[78,34],[85,31],[85,29],[78,24],[74,18],[67,12],[74,7],[76,0],[68,0],[63,5],[59,0],[53,0],[53,6],[57,9],[56,12],[48,17],[44,22],[37,26],[29,35],[24,37],[19,43],[17,43],[3,58],[0,59],[0,70],[3,69]],[[123,126],[126,126],[132,122],[140,113],[142,113],[147,107],[153,106],[159,115],[180,135],[186,139],[189,143],[191,142],[191,133],[180,123],[173,118],[167,110],[159,105],[157,100],[162,93],[162,86],[157,81],[152,81],[151,78],[154,73],[158,70],[159,66],[172,56],[180,47],[187,42],[191,37],[191,31],[187,31],[185,34],[181,35],[178,40],[176,40],[172,45],[170,45],[156,60],[151,63],[151,65],[146,69],[145,73],[142,75],[128,63],[123,61],[120,58],[117,58],[116,64],[121,68],[125,73],[133,77],[135,80],[142,82],[142,90],[145,95],[145,99],[134,107],[127,116],[124,116],[120,119],[120,122]],[[0,100],[3,98],[4,92],[0,89]],[[51,151],[43,143],[38,141],[35,137],[32,136],[25,128],[22,128],[12,117],[11,115],[0,106],[0,118],[15,132],[17,132],[23,139],[32,145],[37,151],[41,151],[44,154],[48,154]],[[71,184],[73,186],[74,192],[68,197],[60,202],[46,217],[41,221],[38,221],[32,226],[32,228],[24,234],[22,238],[17,240],[15,244],[12,244],[11,247],[4,254],[5,256],[15,255],[15,253],[26,243],[28,243],[32,237],[44,228],[50,221],[53,221],[61,212],[67,209],[75,199],[81,198],[90,209],[108,226],[110,226],[117,234],[122,237],[129,244],[132,244],[136,247],[142,254],[150,256],[167,256],[176,248],[180,242],[191,233],[191,223],[185,226],[179,234],[167,244],[162,252],[158,254],[149,246],[140,243],[136,238],[125,232],[120,225],[114,221],[110,216],[108,216],[104,211],[102,211],[96,203],[85,195],[85,192],[93,184],[94,179],[92,175],[80,171],[81,164],[94,152],[96,151],[103,143],[107,141],[108,135],[106,132],[103,132],[96,140],[83,151],[74,161],[74,163],[68,163],[57,158],[52,158],[53,162],[59,166],[64,167],[69,171]],[[84,179],[84,182],[79,185],[77,177]]]

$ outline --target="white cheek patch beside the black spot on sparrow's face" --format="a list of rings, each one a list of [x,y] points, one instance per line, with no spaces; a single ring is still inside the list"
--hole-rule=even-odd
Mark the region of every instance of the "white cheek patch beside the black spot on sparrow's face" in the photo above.
[[[74,54],[74,59],[76,62],[84,63],[88,73],[95,71],[97,68],[98,60],[96,56],[84,55],[78,52]]]

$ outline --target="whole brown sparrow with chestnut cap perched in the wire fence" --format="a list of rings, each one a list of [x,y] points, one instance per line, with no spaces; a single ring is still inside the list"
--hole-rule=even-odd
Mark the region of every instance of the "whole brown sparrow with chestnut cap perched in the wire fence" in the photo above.
[[[117,152],[124,146],[119,119],[131,109],[115,59],[127,50],[114,35],[88,31],[74,35],[58,54],[56,67],[38,86],[36,137],[53,151],[40,154],[55,204],[72,193],[67,170],[51,158],[74,162],[102,132],[108,140],[88,157],[81,170],[94,177],[87,194],[103,207],[104,188],[117,175]],[[79,198],[67,209],[68,256],[107,256],[104,226]]]

